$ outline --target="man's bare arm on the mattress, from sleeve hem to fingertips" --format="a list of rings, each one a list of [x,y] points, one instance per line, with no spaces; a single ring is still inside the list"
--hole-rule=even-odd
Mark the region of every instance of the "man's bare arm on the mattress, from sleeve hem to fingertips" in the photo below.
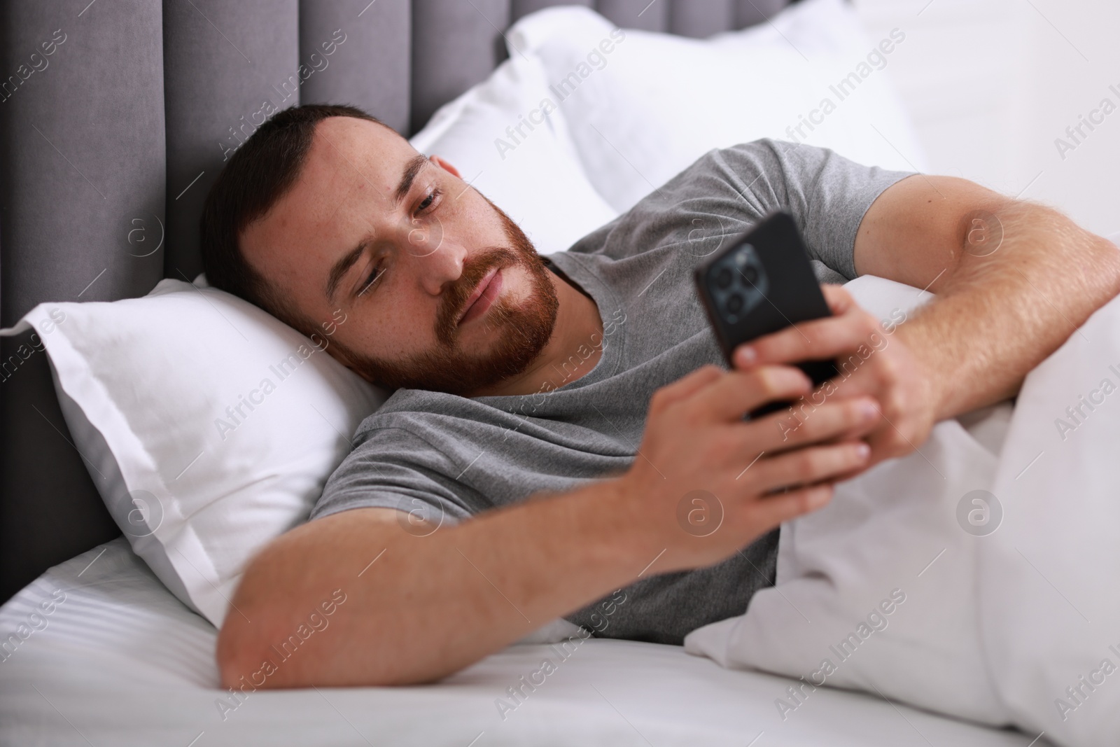
[[[226,615],[223,685],[430,682],[643,572],[731,555],[824,505],[828,480],[866,461],[857,439],[878,420],[874,400],[825,403],[793,438],[778,428],[780,413],[741,419],[809,391],[794,367],[704,366],[654,394],[638,456],[622,477],[427,536],[402,531],[393,508],[343,511],[283,534],[250,563]],[[774,492],[783,486],[795,487]],[[719,530],[703,538],[678,523],[681,498],[697,489],[719,496],[724,510]],[[345,601],[324,617],[319,605],[343,598],[336,590]],[[308,633],[312,611],[328,624]],[[298,648],[281,646],[290,636]]]

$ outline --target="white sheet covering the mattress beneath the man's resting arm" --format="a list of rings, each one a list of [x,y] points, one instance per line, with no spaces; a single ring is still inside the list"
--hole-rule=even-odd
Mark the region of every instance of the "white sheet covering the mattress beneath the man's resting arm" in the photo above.
[[[0,745],[914,745],[1027,747],[997,731],[819,689],[785,721],[792,680],[729,671],[679,646],[590,639],[503,720],[495,700],[538,669],[514,645],[439,684],[251,693],[216,706],[216,631],[122,539],[56,566],[0,608],[0,634],[65,600],[0,661]],[[25,628],[26,632],[26,628]],[[1035,743],[1036,746],[1045,740]]]

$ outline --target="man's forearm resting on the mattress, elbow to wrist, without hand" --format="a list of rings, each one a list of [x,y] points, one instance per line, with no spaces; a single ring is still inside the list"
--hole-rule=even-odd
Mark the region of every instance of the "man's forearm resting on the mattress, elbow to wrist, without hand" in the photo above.
[[[242,580],[218,644],[223,683],[236,688],[262,669],[274,671],[254,687],[407,684],[458,671],[627,585],[653,560],[613,523],[623,515],[610,510],[614,489],[599,483],[427,536],[371,513],[379,510],[293,530]],[[327,627],[282,659],[283,643],[309,629],[307,614],[335,589],[345,603]]]

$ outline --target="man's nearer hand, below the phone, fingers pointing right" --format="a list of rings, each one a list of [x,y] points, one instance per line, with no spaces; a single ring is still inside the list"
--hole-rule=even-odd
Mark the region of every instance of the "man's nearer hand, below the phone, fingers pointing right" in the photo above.
[[[637,458],[619,478],[614,504],[628,516],[623,524],[648,543],[650,557],[657,554],[654,572],[727,558],[827,504],[831,483],[867,464],[869,450],[858,437],[879,423],[870,398],[823,403],[788,433],[778,427],[782,413],[743,419],[811,387],[792,366],[704,366],[654,393]],[[837,442],[841,438],[849,440]]]

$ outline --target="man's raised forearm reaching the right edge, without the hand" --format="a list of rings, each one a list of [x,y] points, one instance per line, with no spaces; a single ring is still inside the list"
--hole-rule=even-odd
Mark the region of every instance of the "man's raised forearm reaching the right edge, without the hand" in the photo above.
[[[1120,293],[1120,251],[1108,240],[1033,203],[1005,200],[984,213],[962,225],[936,300],[896,333],[931,372],[937,420],[1014,395]]]

